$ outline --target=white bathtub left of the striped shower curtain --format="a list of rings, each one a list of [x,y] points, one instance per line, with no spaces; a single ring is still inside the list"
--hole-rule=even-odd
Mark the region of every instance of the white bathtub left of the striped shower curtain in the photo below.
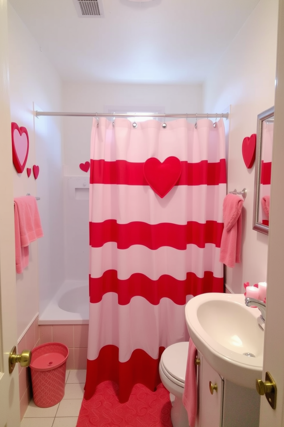
[[[39,313],[39,325],[89,323],[89,282],[65,281]]]

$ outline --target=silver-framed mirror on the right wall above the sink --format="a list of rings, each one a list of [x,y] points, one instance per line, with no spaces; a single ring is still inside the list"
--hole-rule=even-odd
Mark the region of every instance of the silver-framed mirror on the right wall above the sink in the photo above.
[[[274,107],[257,116],[253,230],[268,234]]]

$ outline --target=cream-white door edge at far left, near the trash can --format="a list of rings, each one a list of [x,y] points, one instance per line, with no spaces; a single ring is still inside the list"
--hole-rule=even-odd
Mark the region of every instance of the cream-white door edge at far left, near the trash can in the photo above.
[[[9,374],[8,366],[17,345],[14,251],[7,1],[0,0],[0,427],[20,427],[18,367]]]

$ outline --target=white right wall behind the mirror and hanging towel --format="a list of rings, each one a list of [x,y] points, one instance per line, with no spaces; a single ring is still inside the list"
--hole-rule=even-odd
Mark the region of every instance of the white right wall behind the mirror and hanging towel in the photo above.
[[[256,133],[257,115],[274,105],[278,0],[260,0],[204,85],[204,111],[231,104],[228,190],[247,188],[242,262],[227,268],[227,286],[266,281],[268,236],[252,230],[255,167],[242,158],[244,137]]]

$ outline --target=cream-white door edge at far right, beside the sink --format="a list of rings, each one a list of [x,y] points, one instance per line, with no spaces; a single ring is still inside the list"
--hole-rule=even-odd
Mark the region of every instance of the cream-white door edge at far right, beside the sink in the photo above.
[[[276,409],[261,397],[260,427],[284,426],[284,0],[279,0],[275,120],[268,237],[264,369],[277,386]]]

